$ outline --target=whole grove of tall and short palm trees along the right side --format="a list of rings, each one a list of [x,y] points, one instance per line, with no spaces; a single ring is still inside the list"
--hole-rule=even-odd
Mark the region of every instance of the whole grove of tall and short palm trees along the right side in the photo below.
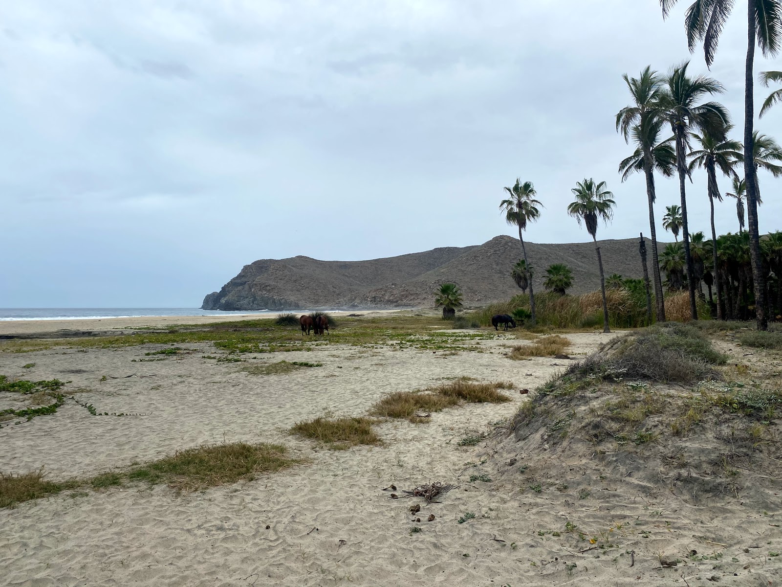
[[[661,0],[663,16],[676,0]],[[651,240],[651,277],[646,275],[645,289],[648,312],[654,306],[655,318],[665,321],[665,290],[686,290],[689,297],[689,317],[698,319],[698,297],[705,301],[708,289],[708,310],[717,319],[752,319],[758,330],[767,330],[771,319],[782,314],[782,232],[761,236],[758,228],[758,207],[762,203],[758,171],[782,175],[782,149],[767,135],[754,128],[754,56],[755,45],[766,56],[777,55],[782,34],[782,0],[696,0],[685,13],[685,33],[691,49],[702,43],[709,67],[716,56],[723,25],[731,16],[734,5],[747,9],[747,59],[744,70],[744,136],[743,141],[732,135],[734,125],[726,108],[715,101],[725,89],[719,81],[701,74],[692,74],[689,63],[659,74],[646,67],[637,77],[624,76],[630,92],[630,105],[616,115],[615,125],[622,138],[635,147],[630,157],[619,164],[624,182],[633,173],[643,173],[646,183]],[[782,83],[782,71],[764,71],[762,85]],[[769,108],[782,101],[782,88],[771,92],[760,110],[762,117]],[[687,216],[687,182],[692,172],[705,171],[705,193],[710,207],[710,234],[691,232]],[[655,216],[655,176],[676,178],[680,202],[666,207],[662,226],[672,232],[675,243],[658,250]],[[719,189],[727,182],[730,191]],[[692,188],[691,188],[692,189]],[[542,203],[534,185],[517,179],[506,187],[506,199],[500,203],[506,220],[518,228],[522,258],[512,268],[515,283],[529,288],[529,319],[536,322],[536,302],[533,290],[533,263],[524,244],[523,232],[530,222],[540,218]],[[698,190],[700,191],[700,190]],[[600,271],[604,331],[608,332],[609,315],[606,303],[606,283],[597,246],[597,226],[612,218],[615,201],[606,182],[584,179],[572,189],[574,201],[568,214],[583,225],[595,243],[596,261]],[[737,232],[717,236],[714,224],[716,204],[724,197],[735,200]],[[744,214],[746,212],[746,221]],[[745,229],[746,227],[746,229]],[[681,235],[681,240],[679,236]],[[640,253],[646,273],[646,249],[643,236]],[[665,281],[663,281],[665,274]],[[638,280],[622,280],[619,275],[608,278],[609,289],[633,286]],[[544,281],[547,290],[564,295],[572,285],[569,268],[551,265]],[[460,298],[461,301],[461,298]],[[653,302],[652,302],[653,301]],[[705,316],[701,316],[705,317]],[[651,315],[648,316],[651,321]]]

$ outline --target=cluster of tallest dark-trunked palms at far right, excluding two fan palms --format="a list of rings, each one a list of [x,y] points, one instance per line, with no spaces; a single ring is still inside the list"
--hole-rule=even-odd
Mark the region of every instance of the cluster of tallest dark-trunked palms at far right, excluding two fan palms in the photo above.
[[[660,0],[662,14],[669,15],[677,0]],[[743,4],[743,3],[742,3]],[[730,17],[735,2],[733,0],[695,0],[685,15],[687,44],[691,51],[702,42],[706,64],[711,67],[716,56],[717,45],[724,24]],[[731,130],[730,120],[725,108],[719,103],[702,102],[710,95],[724,91],[718,81],[710,77],[691,77],[687,73],[687,63],[674,67],[665,76],[658,75],[651,67],[644,69],[639,77],[625,76],[627,87],[633,96],[633,104],[622,109],[616,116],[616,128],[622,132],[627,142],[637,146],[633,156],[622,161],[619,171],[623,179],[633,171],[643,171],[647,185],[647,203],[652,241],[652,268],[654,270],[655,300],[657,301],[657,319],[665,320],[665,305],[662,297],[662,279],[659,273],[659,255],[655,231],[655,171],[664,176],[679,178],[680,188],[680,225],[684,266],[687,275],[687,287],[690,292],[692,318],[698,317],[695,303],[695,286],[698,282],[695,274],[695,261],[691,250],[691,237],[687,224],[687,194],[685,179],[694,167],[705,168],[708,178],[708,198],[712,217],[712,269],[717,273],[716,290],[718,297],[717,313],[723,318],[722,279],[719,279],[719,240],[714,229],[714,200],[722,200],[716,182],[717,167],[723,174],[737,180],[733,196],[737,199],[737,211],[744,218],[744,202],[747,211],[748,257],[751,268],[752,293],[755,306],[755,319],[758,330],[768,328],[768,308],[766,303],[766,276],[768,264],[764,264],[758,229],[759,185],[757,171],[764,166],[763,161],[780,160],[778,147],[771,142],[764,145],[763,135],[755,131],[755,45],[766,56],[776,55],[782,39],[782,0],[746,0],[747,8],[747,59],[744,64],[744,140],[732,141],[727,138]],[[782,72],[770,71],[761,74],[764,85],[782,81]],[[761,109],[761,116],[774,103],[782,99],[782,90],[773,92]],[[660,133],[665,124],[673,131],[671,139],[660,141]],[[698,149],[691,149],[692,142],[698,143]],[[764,149],[769,149],[764,151]],[[690,158],[689,165],[687,157]],[[737,164],[743,164],[743,177],[736,171]],[[769,168],[769,167],[766,167]],[[769,169],[770,171],[770,169]],[[772,171],[774,172],[774,171]],[[777,175],[775,173],[775,175]],[[743,185],[741,184],[743,182]],[[741,193],[741,199],[740,199]],[[673,226],[673,225],[672,225]],[[742,233],[743,234],[743,233]],[[678,239],[677,239],[678,240]],[[744,275],[746,277],[746,275]],[[730,279],[734,279],[731,276]],[[730,281],[729,279],[729,281]],[[726,283],[730,286],[730,283]],[[728,291],[726,290],[726,294]]]

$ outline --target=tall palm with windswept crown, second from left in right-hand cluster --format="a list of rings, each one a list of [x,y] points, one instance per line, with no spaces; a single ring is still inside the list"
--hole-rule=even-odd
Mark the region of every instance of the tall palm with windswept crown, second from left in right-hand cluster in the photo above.
[[[705,95],[724,91],[719,81],[711,77],[687,75],[689,63],[683,63],[665,77],[662,95],[658,106],[665,119],[671,124],[676,139],[676,171],[679,173],[679,195],[682,207],[682,241],[684,259],[687,261],[687,286],[690,290],[690,312],[693,320],[698,319],[698,306],[695,304],[695,280],[692,256],[690,254],[690,232],[687,227],[687,148],[691,132],[711,131],[719,136],[719,131],[729,124],[725,107],[716,102],[699,104]],[[721,138],[721,137],[720,137]]]

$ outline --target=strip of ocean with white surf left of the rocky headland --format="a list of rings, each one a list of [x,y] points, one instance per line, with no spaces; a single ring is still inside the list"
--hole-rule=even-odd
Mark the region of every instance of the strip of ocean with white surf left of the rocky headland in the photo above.
[[[269,310],[201,310],[200,308],[0,308],[0,320],[79,320],[135,316],[228,316],[266,314]]]

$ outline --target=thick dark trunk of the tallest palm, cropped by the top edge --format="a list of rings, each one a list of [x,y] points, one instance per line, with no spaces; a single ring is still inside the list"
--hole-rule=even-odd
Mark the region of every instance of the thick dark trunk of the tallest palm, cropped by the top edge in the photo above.
[[[752,261],[752,283],[755,289],[755,321],[758,330],[769,330],[766,315],[766,283],[763,279],[763,261],[760,255],[758,230],[758,192],[755,182],[755,148],[752,128],[755,124],[755,2],[747,0],[747,62],[744,67],[744,178],[747,181],[747,229],[749,257]]]

